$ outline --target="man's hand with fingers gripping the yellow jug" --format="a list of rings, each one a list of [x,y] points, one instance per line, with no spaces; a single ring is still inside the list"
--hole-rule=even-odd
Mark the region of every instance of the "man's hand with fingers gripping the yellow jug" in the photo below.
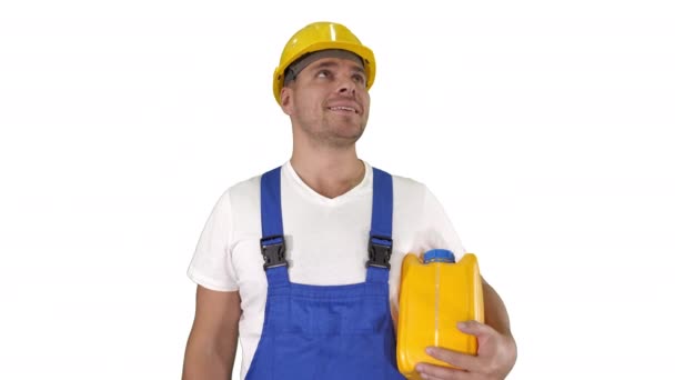
[[[467,321],[457,328],[478,340],[477,356],[430,347],[426,353],[461,369],[420,363],[415,367],[423,379],[503,380],[515,364],[516,346],[512,336],[497,332],[487,324]]]

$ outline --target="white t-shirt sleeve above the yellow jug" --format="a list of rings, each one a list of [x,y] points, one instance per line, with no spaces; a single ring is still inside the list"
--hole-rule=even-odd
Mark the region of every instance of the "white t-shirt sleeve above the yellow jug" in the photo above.
[[[431,240],[427,242],[429,246],[433,248],[446,247],[446,249],[450,249],[454,253],[455,260],[459,261],[465,252],[462,241],[443,204],[441,204],[426,186],[424,186],[423,207],[424,221],[427,223],[425,230],[431,232],[427,236],[427,239]]]

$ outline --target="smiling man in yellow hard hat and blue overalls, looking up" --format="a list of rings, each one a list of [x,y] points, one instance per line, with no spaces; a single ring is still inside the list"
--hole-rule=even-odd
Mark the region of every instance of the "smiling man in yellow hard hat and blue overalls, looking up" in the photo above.
[[[188,274],[197,311],[183,379],[230,379],[238,338],[242,379],[403,379],[395,318],[403,256],[463,252],[427,188],[359,159],[355,143],[375,79],[372,51],[344,26],[315,22],[285,46],[273,91],[291,119],[290,161],[219,199]],[[484,288],[478,354],[430,354],[425,379],[504,379],[515,341],[497,293]]]

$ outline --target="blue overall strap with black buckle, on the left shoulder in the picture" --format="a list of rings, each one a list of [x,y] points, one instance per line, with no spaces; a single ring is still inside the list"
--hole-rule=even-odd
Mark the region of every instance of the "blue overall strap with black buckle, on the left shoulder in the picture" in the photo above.
[[[262,239],[260,250],[268,284],[289,283],[289,271],[281,213],[281,167],[262,174],[260,180]]]

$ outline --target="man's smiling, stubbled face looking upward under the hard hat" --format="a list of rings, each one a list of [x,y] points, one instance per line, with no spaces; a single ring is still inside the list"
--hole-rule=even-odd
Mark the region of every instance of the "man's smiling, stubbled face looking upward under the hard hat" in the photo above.
[[[332,147],[353,144],[367,123],[370,96],[363,66],[322,58],[282,89],[282,108],[311,140]]]

